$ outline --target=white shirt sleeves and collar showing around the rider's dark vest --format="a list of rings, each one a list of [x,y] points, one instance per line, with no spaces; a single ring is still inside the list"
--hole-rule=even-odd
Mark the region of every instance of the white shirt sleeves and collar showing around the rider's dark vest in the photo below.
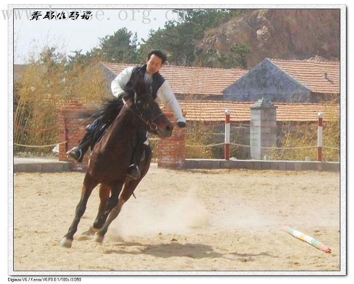
[[[111,90],[112,90],[113,96],[118,98],[121,94],[124,93],[123,89],[126,86],[126,84],[128,84],[128,82],[130,80],[133,68],[134,67],[125,68],[112,81]],[[151,82],[152,74],[149,74],[148,72],[145,72],[144,79],[146,81],[150,81]],[[165,80],[165,82],[163,82],[161,87],[157,90],[156,95],[160,99],[160,101],[163,103],[164,106],[168,107],[170,110],[173,111],[177,122],[186,123],[186,118],[183,117],[183,113],[182,113],[182,110],[180,108],[180,105],[179,105],[178,101],[176,100],[174,94],[172,93],[172,90],[169,87],[169,85],[168,85],[166,80]]]

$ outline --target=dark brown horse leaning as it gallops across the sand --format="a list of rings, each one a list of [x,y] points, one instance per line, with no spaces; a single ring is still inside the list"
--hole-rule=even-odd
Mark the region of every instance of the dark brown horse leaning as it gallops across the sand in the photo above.
[[[121,105],[119,115],[93,148],[75,217],[60,242],[61,246],[71,247],[77,225],[85,212],[87,200],[98,184],[101,184],[100,206],[97,218],[86,234],[96,233],[95,240],[103,241],[108,226],[118,216],[123,204],[132,195],[150,167],[151,149],[146,145],[145,158],[140,163],[141,177],[138,180],[126,179],[132,156],[131,145],[137,131],[148,130],[161,138],[172,135],[172,125],[161,112],[158,104],[154,102],[149,90],[150,88],[144,83],[136,84],[135,92],[131,92],[130,96],[125,98],[126,104]]]

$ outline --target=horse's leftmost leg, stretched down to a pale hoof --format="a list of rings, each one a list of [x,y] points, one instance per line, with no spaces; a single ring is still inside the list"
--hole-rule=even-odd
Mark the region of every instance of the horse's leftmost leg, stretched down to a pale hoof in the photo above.
[[[86,174],[85,178],[83,180],[83,186],[82,186],[82,190],[81,190],[81,198],[80,198],[78,205],[76,206],[74,220],[73,220],[71,226],[69,227],[67,234],[62,238],[62,240],[60,242],[60,245],[62,247],[71,248],[74,234],[77,231],[77,225],[79,224],[80,219],[86,210],[87,200],[89,200],[91,192],[96,187],[96,185],[97,185],[97,183],[94,182],[88,174]]]

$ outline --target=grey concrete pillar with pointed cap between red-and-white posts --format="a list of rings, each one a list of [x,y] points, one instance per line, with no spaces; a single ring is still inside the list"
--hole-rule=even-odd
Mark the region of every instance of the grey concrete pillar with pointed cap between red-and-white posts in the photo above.
[[[277,146],[277,106],[264,98],[251,105],[251,159],[261,160],[264,155],[272,156]]]

